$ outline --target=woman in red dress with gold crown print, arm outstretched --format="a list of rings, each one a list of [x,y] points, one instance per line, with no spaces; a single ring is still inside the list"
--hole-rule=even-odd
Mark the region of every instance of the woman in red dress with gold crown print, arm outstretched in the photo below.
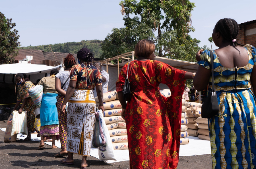
[[[154,50],[154,42],[146,39],[135,47],[138,59],[130,62],[128,71],[131,101],[126,103],[122,93],[128,64],[116,82],[131,169],[176,168],[179,161],[181,98],[185,80],[193,74],[154,60]],[[160,83],[168,85],[172,96],[160,94]]]

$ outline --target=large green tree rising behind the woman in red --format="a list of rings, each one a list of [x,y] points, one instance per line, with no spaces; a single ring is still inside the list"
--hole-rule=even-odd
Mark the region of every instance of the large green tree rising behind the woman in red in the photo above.
[[[132,51],[139,40],[150,39],[156,44],[158,56],[195,60],[200,41],[188,35],[194,31],[191,25],[194,3],[188,0],[123,0],[119,5],[125,27],[113,28],[105,38],[102,59]]]

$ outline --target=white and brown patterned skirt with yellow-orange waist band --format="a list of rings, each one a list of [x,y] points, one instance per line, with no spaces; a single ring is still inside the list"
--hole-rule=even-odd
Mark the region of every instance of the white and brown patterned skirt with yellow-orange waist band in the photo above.
[[[67,113],[67,151],[90,156],[96,103],[92,90],[75,89]]]

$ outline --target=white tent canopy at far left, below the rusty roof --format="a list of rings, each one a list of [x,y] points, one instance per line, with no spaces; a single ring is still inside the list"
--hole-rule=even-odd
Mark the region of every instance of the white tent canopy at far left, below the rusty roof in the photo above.
[[[0,74],[17,74],[17,73],[26,73],[26,74],[38,74],[38,73],[47,73],[52,69],[61,68],[62,65],[59,66],[46,66],[43,64],[3,64],[0,65]]]

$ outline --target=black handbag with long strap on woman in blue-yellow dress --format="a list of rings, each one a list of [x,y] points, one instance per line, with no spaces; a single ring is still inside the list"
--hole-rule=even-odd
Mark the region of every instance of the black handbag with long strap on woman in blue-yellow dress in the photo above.
[[[210,50],[211,66],[212,66],[212,91],[208,91],[208,97],[203,98],[202,103],[202,118],[211,118],[219,113],[219,103],[214,88],[214,77],[213,77],[213,53]]]

